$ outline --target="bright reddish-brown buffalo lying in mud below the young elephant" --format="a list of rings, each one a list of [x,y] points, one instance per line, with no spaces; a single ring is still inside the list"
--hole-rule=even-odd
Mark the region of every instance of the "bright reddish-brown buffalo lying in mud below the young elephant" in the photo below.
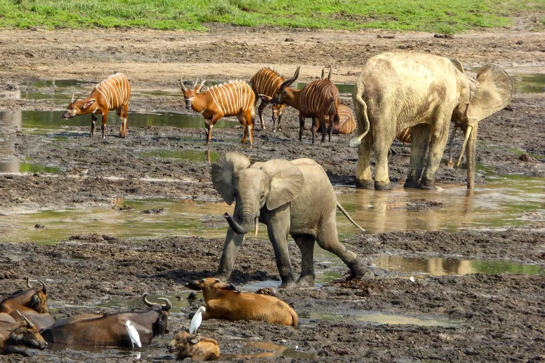
[[[190,282],[187,287],[203,291],[206,302],[203,320],[265,320],[274,324],[297,325],[297,313],[275,297],[241,293],[233,285],[221,283],[214,277]]]

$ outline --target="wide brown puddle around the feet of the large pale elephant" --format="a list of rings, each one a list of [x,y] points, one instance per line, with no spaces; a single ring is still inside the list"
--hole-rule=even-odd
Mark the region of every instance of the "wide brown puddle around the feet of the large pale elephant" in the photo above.
[[[479,166],[477,173],[488,173]],[[486,176],[467,196],[465,185],[437,183],[443,190],[403,189],[403,180],[392,191],[354,190],[338,194],[344,209],[370,233],[391,231],[455,232],[461,228],[520,226],[520,216],[545,213],[545,178]],[[355,233],[341,214],[337,227],[341,237]]]

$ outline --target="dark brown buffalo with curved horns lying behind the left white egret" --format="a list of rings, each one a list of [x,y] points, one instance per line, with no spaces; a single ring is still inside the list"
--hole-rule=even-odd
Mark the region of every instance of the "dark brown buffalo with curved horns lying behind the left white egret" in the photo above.
[[[128,311],[114,314],[83,314],[58,320],[49,328],[41,331],[45,340],[50,343],[77,344],[82,346],[116,346],[132,347],[125,328],[127,320],[131,321],[140,335],[142,345],[149,344],[159,334],[169,331],[168,311],[172,303],[166,298],[165,305],[153,304],[144,294],[143,301],[153,307],[147,311]]]

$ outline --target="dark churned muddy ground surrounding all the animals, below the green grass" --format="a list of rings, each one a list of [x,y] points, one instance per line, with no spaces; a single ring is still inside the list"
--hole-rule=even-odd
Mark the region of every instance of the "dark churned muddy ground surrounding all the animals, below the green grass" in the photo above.
[[[207,146],[203,123],[199,125],[199,119],[183,107],[176,88],[180,74],[189,79],[198,74],[212,81],[247,80],[264,65],[275,65],[289,74],[295,65],[302,64],[301,82],[308,82],[319,76],[322,66],[332,64],[335,82],[350,84],[368,57],[392,50],[456,57],[468,70],[493,62],[513,74],[543,74],[542,33],[469,32],[452,39],[434,38],[429,33],[396,33],[393,39],[377,38],[377,34],[390,33],[232,27],[213,28],[205,34],[2,31],[0,51],[9,57],[0,59],[0,93],[4,95],[0,97],[0,213],[117,207],[115,213],[134,213],[141,218],[175,216],[168,207],[164,213],[141,213],[163,208],[160,202],[131,211],[130,201],[221,201],[211,185],[210,162],[227,151],[244,153],[252,161],[314,159],[332,183],[343,186],[337,188],[338,193],[359,196],[352,188],[358,154],[347,147],[354,135],[336,135],[331,143],[312,145],[306,131],[299,143],[296,113],[287,108],[283,130],[273,133],[267,108],[267,129],[256,125],[253,146],[240,144],[243,130],[233,121],[220,121],[217,126],[223,127],[214,128],[213,143]],[[288,37],[294,41],[284,42]],[[74,44],[74,38],[87,46]],[[517,44],[520,39],[524,42]],[[188,57],[191,63],[186,62]],[[99,132],[88,137],[90,118],[59,119],[72,92],[89,92],[114,70],[125,72],[132,82],[130,112],[135,113],[135,121],[131,124],[129,114],[128,139],[117,137],[117,116],[108,120],[105,140],[98,137]],[[55,86],[51,80],[57,80]],[[520,190],[532,195],[543,190],[545,95],[539,84],[530,84],[531,93],[514,95],[513,111],[497,112],[481,122],[477,192],[501,178],[520,183]],[[341,96],[343,103],[351,105],[349,93]],[[461,143],[460,133],[456,154]],[[396,142],[393,150],[397,154],[389,161],[390,176],[402,183],[410,148]],[[528,158],[519,158],[523,153]],[[446,158],[445,153],[443,165]],[[440,185],[465,183],[463,167],[443,165],[436,176]],[[507,201],[511,198],[512,204],[526,200],[505,189],[499,192],[505,192],[503,197]],[[470,225],[458,210],[450,215],[452,224],[445,217],[435,219],[433,214],[425,214],[448,211],[456,203],[462,204],[462,211],[470,208],[474,213],[479,213],[479,207],[485,209],[483,213],[496,208],[493,203],[464,204],[481,202],[483,197],[463,199],[452,194],[451,202],[448,196],[437,201],[423,193],[421,198],[402,199],[399,192],[391,192],[358,199],[354,207],[349,206],[356,217],[361,210],[373,211],[371,207],[380,203],[388,206],[377,208],[376,216],[369,219],[378,226],[371,231],[402,230],[365,235],[342,232],[346,237],[343,243],[368,265],[364,279],[344,281],[342,262],[317,249],[316,288],[276,291],[299,313],[297,328],[210,320],[203,323],[203,334],[219,341],[223,360],[253,361],[265,356],[275,361],[544,360],[545,225],[538,197],[528,208],[514,209],[516,223],[513,215],[510,220]],[[390,212],[399,210],[403,219]],[[32,222],[33,232],[52,229],[47,223],[43,229],[34,229],[38,222]],[[225,222],[207,211],[199,223],[196,228],[214,229],[214,236],[181,237],[186,235],[184,231],[177,233],[171,228],[160,237],[144,238],[149,234],[141,231],[126,237],[124,231],[115,229],[105,233],[96,227],[83,233],[66,227],[56,239],[43,244],[23,242],[22,234],[4,234],[9,240],[0,237],[0,295],[25,286],[22,279],[27,275],[43,279],[56,318],[143,308],[140,297],[144,292],[166,296],[174,304],[172,332],[141,350],[140,356],[117,348],[50,347],[37,353],[40,360],[53,361],[172,358],[165,344],[174,331],[187,329],[187,314],[202,304],[198,298],[186,300],[190,291],[184,285],[212,276],[223,247],[223,238],[217,235],[225,231]],[[382,228],[384,223],[390,224]],[[19,227],[4,224],[0,222],[0,228],[16,231]],[[446,225],[447,231],[429,231]],[[468,225],[471,229],[464,230]],[[266,232],[261,233],[258,238],[247,238],[239,253],[232,282],[241,289],[276,289],[280,284],[274,252]],[[289,251],[298,271],[300,253],[293,242]],[[509,265],[498,268],[502,263]],[[410,276],[416,277],[415,282]],[[13,361],[2,356],[0,360]]]

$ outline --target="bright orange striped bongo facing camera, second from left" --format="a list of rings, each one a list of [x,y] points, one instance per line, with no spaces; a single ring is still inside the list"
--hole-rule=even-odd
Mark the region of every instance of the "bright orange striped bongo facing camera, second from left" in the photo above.
[[[195,80],[193,87],[187,88],[180,77],[180,88],[184,94],[185,108],[202,113],[204,123],[207,126],[207,142],[212,137],[212,128],[223,116],[237,116],[244,126],[242,143],[250,135],[250,145],[253,143],[253,120],[256,117],[254,106],[256,95],[250,85],[244,81],[229,81],[217,86],[212,86],[201,93],[204,82]]]

